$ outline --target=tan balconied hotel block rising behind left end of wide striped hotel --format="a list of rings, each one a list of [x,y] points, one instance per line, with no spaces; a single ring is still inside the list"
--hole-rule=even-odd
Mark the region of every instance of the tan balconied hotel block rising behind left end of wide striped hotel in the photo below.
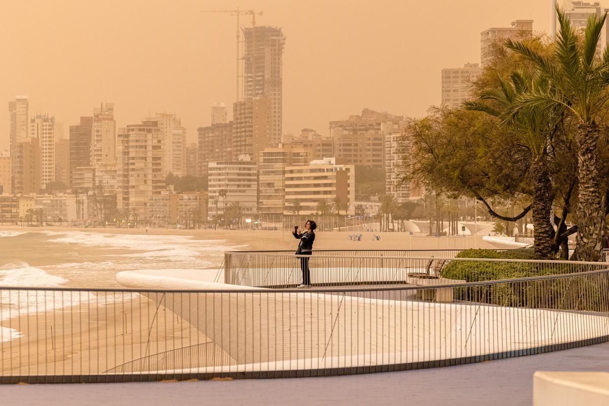
[[[285,207],[286,167],[306,165],[312,160],[312,149],[299,144],[266,147],[258,161],[258,212],[281,215]]]

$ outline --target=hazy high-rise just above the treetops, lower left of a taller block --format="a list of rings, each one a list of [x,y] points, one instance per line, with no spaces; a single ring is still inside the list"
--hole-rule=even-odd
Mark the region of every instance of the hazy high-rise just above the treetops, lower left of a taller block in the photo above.
[[[466,63],[463,68],[442,69],[442,104],[459,108],[471,97],[471,83],[478,79],[482,69],[477,63]]]

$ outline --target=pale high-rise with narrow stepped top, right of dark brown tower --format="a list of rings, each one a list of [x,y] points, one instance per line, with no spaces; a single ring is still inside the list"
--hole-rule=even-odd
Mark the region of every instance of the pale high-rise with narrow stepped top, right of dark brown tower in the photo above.
[[[116,164],[114,103],[101,103],[93,109],[91,164],[95,169]]]

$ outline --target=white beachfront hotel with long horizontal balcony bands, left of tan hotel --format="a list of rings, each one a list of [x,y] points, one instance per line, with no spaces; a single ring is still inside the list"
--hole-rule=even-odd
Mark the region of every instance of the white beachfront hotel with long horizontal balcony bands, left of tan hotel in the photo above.
[[[232,203],[244,216],[258,212],[258,165],[249,156],[235,161],[213,161],[208,166],[209,215],[224,215]],[[225,198],[220,191],[226,191]]]

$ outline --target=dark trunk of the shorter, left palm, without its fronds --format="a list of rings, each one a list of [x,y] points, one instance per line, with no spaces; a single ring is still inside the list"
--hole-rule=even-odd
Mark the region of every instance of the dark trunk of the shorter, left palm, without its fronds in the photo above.
[[[554,243],[554,227],[552,226],[550,215],[552,213],[552,202],[554,193],[550,183],[549,173],[543,158],[537,157],[532,164],[533,173],[533,224],[535,233],[533,234],[533,246],[535,256],[538,259],[547,259],[554,256],[552,247]]]

